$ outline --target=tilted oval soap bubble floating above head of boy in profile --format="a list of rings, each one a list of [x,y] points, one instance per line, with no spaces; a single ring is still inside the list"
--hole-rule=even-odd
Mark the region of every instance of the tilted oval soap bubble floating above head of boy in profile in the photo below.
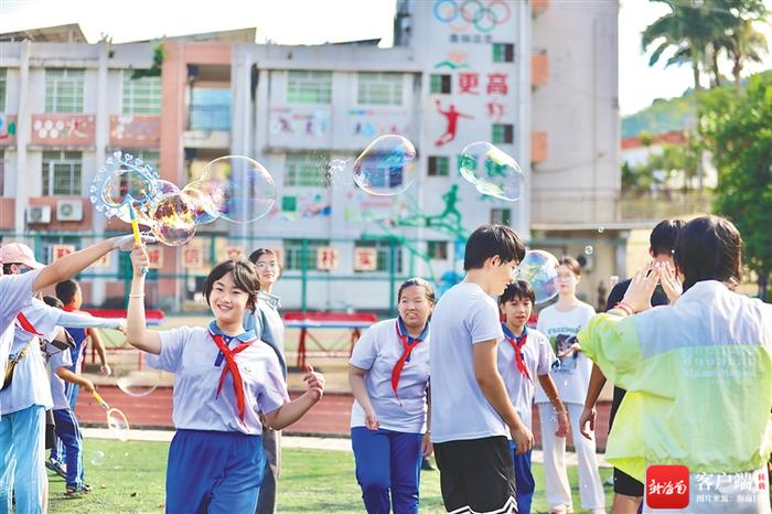
[[[490,142],[468,144],[461,151],[459,171],[482,194],[514,202],[525,191],[525,175],[517,161]]]

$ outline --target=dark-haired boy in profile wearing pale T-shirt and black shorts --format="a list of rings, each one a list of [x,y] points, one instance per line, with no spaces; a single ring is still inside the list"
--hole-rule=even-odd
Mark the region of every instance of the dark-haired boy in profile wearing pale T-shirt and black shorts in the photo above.
[[[467,242],[464,281],[442,296],[432,314],[431,442],[448,512],[516,510],[507,436],[517,453],[530,450],[534,437],[496,368],[504,333],[491,297],[504,292],[524,256],[514,231],[481,226]]]

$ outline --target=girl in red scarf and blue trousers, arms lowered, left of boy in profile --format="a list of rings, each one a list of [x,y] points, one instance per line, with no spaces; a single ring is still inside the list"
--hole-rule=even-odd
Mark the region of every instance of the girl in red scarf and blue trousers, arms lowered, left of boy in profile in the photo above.
[[[418,513],[421,457],[431,454],[427,427],[429,315],[435,290],[420,278],[397,295],[399,317],[362,335],[349,379],[356,400],[351,442],[368,513]]]

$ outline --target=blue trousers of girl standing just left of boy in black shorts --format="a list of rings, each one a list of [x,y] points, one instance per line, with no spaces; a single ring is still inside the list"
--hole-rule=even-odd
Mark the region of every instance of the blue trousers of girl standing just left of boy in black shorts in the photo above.
[[[389,491],[396,514],[418,513],[422,439],[422,433],[351,429],[356,481],[369,514],[390,512]]]

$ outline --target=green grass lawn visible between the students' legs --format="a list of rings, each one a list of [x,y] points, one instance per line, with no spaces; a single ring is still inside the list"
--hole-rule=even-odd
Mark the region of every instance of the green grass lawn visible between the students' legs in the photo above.
[[[64,495],[64,481],[49,473],[51,508],[56,513],[159,513],[163,511],[163,482],[169,445],[165,442],[85,441],[86,482],[93,492],[77,499]],[[286,450],[279,485],[280,513],[363,513],[360,488],[354,478],[354,458],[343,451]],[[532,512],[547,512],[540,484],[544,469],[534,467],[537,491]],[[605,480],[611,470],[601,470]],[[579,507],[576,468],[569,468],[577,513]],[[607,505],[611,489],[605,488]],[[441,513],[439,472],[421,476],[421,513]],[[236,513],[234,513],[236,514]]]

